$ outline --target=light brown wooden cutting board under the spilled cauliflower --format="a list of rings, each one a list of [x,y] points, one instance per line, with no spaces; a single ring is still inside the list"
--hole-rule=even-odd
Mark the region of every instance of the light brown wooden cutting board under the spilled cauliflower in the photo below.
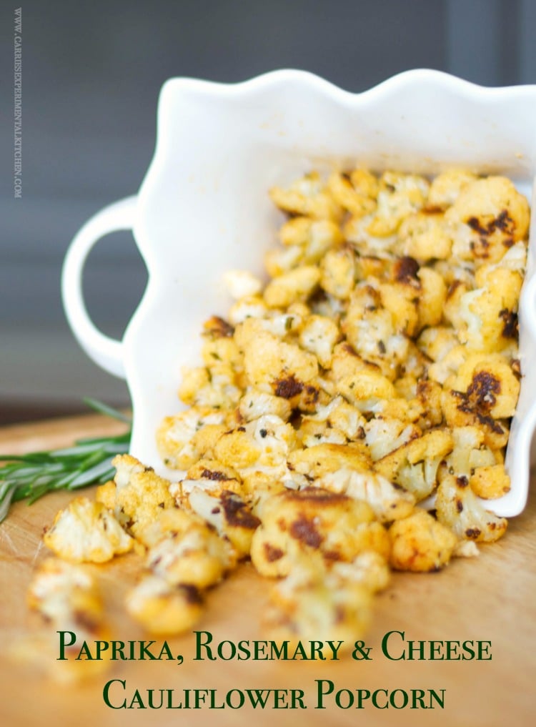
[[[0,430],[0,450],[35,451],[65,446],[86,435],[119,432],[121,425],[103,417],[78,417],[20,425]],[[92,489],[88,494],[91,496]],[[481,547],[479,558],[458,559],[437,574],[398,574],[388,590],[377,598],[375,619],[367,635],[372,647],[368,661],[351,656],[340,661],[196,661],[195,638],[167,640],[183,664],[171,661],[114,662],[110,671],[80,684],[65,685],[43,673],[54,667],[59,654],[41,652],[41,667],[13,658],[20,644],[39,651],[42,630],[25,606],[25,592],[33,569],[47,556],[41,545],[43,527],[65,506],[72,494],[56,493],[28,507],[15,505],[0,525],[0,724],[31,727],[61,724],[77,727],[116,725],[431,725],[444,727],[516,727],[534,723],[536,712],[536,498],[510,523],[499,543]],[[113,638],[128,641],[147,638],[130,622],[122,608],[122,597],[135,579],[136,556],[118,558],[106,566],[95,566],[103,584]],[[265,640],[262,612],[267,584],[244,565],[210,593],[207,611],[197,630],[212,632],[214,642]],[[491,642],[489,660],[389,660],[381,651],[388,632],[404,632],[407,642],[472,640]],[[158,643],[161,645],[162,640]],[[55,642],[54,642],[55,643]],[[392,656],[402,650],[401,637],[391,637]],[[159,649],[158,649],[159,651]],[[305,709],[265,710],[252,707],[197,710],[112,709],[105,705],[103,687],[108,680],[112,701],[117,705],[137,689],[145,704],[148,688],[173,689],[172,704],[180,702],[183,690],[214,689],[216,703],[235,689],[302,690]],[[318,684],[332,683],[332,694],[317,699]],[[399,706],[404,693],[425,694],[444,690],[444,708],[410,709],[367,706],[356,709],[356,690],[377,691],[377,704],[385,703],[385,692],[394,694]],[[114,691],[115,690],[115,691]],[[338,706],[335,694],[338,696]],[[193,694],[191,692],[190,694]],[[271,693],[273,695],[273,692]],[[297,694],[297,693],[296,693]],[[361,692],[364,694],[364,692]],[[348,704],[353,697],[352,707]],[[231,696],[239,700],[238,692]],[[282,699],[282,698],[281,698]],[[175,701],[173,701],[175,700]],[[398,700],[398,701],[397,701]],[[426,699],[428,702],[428,696]],[[235,702],[236,704],[236,702]],[[273,702],[272,702],[273,704]],[[281,707],[284,702],[280,702]],[[417,702],[418,704],[418,702]]]

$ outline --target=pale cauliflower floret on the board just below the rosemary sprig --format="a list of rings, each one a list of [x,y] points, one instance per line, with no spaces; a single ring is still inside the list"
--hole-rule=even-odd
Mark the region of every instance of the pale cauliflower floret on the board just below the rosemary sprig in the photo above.
[[[101,502],[87,497],[76,497],[57,513],[43,542],[73,563],[105,563],[132,548],[132,538],[113,514]]]

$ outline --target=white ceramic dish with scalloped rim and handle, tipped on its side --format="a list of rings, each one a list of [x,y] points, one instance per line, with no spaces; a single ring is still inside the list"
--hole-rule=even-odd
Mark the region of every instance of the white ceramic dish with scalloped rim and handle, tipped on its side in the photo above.
[[[73,332],[97,364],[127,379],[132,454],[169,475],[156,451],[156,427],[180,409],[180,369],[199,362],[202,321],[225,315],[230,305],[224,271],[262,274],[263,252],[281,221],[268,199],[271,185],[356,163],[423,174],[455,164],[507,174],[528,196],[535,129],[535,86],[486,89],[436,71],[401,73],[357,95],[302,71],[233,85],[167,81],[156,151],[139,193],[89,220],[63,269]],[[149,281],[124,339],[115,341],[90,321],[81,276],[97,239],[119,229],[133,230]],[[488,502],[507,516],[520,513],[527,499],[536,425],[536,377],[529,375],[536,366],[533,251],[520,308],[524,378],[507,453],[513,486]]]

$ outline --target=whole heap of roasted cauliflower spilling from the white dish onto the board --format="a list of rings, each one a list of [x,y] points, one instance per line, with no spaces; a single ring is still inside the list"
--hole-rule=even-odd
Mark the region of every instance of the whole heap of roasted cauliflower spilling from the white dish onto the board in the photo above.
[[[126,608],[149,632],[190,629],[251,558],[274,579],[273,635],[353,643],[391,569],[436,571],[505,532],[484,501],[510,488],[529,206],[462,169],[312,172],[271,198],[287,220],[270,281],[225,276],[235,302],[156,433],[182,479],[118,456],[44,542],[75,563],[143,554]],[[55,614],[32,593],[65,619],[68,599]]]

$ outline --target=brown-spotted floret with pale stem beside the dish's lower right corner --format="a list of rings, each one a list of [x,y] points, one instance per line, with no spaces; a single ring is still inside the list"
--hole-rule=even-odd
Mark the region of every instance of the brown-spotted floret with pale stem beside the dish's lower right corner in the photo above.
[[[493,542],[505,534],[508,522],[485,510],[469,486],[468,478],[447,475],[437,489],[439,522],[459,538]]]

